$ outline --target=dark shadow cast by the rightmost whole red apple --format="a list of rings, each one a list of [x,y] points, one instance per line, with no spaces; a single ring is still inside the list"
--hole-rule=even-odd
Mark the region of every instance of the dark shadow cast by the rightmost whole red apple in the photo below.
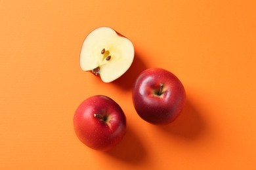
[[[158,127],[167,133],[192,140],[202,134],[205,122],[200,112],[187,100],[184,109],[174,122]]]

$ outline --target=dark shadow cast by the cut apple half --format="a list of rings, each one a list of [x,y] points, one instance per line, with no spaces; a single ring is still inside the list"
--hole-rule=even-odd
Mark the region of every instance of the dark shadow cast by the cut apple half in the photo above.
[[[117,86],[123,88],[123,90],[131,90],[135,84],[135,80],[145,69],[147,69],[147,67],[142,61],[141,55],[139,52],[135,51],[135,57],[131,67],[122,76],[114,80],[114,84],[117,84]]]

